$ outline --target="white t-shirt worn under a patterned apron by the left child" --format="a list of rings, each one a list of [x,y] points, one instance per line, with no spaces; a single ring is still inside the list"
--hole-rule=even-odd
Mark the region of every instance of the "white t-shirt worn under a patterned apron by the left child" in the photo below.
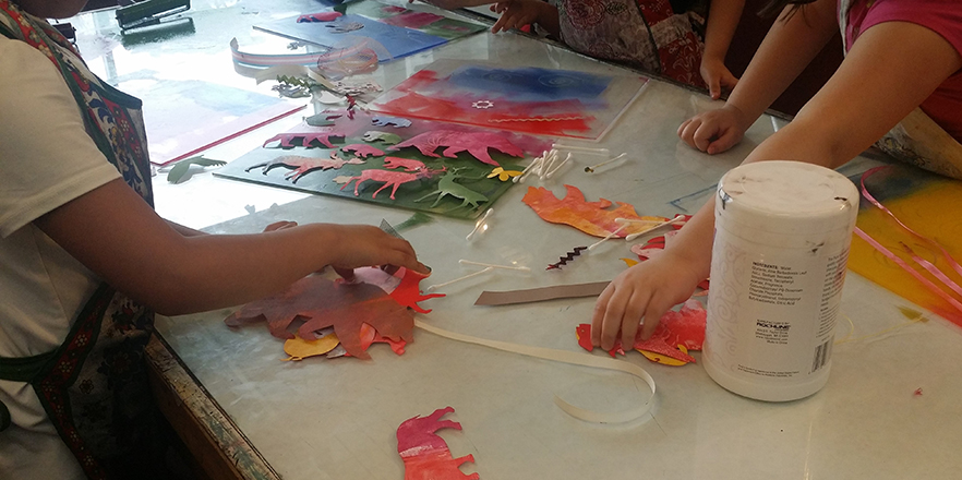
[[[2,36],[0,59],[0,357],[28,357],[60,346],[100,283],[33,221],[120,173],[50,60]],[[84,478],[33,387],[0,381],[0,478]]]

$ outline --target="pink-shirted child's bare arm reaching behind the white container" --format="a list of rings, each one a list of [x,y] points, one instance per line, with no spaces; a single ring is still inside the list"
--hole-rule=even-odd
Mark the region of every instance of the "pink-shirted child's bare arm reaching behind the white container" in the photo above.
[[[905,22],[875,25],[855,41],[838,72],[795,120],[745,161],[789,159],[838,167],[891,130],[960,69],[962,56],[937,33]],[[738,88],[744,86],[743,80]],[[708,275],[713,202],[681,229],[664,254],[622,273],[599,297],[592,319],[594,345],[611,348],[620,331],[622,341],[632,345],[642,316],[647,338],[658,319]]]

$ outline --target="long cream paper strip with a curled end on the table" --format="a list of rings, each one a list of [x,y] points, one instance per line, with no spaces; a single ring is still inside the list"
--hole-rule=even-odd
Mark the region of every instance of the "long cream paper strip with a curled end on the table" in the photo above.
[[[572,404],[563,400],[557,395],[554,396],[554,403],[558,406],[565,413],[570,415],[579,420],[585,420],[589,422],[596,423],[624,423],[629,422],[632,420],[636,420],[648,413],[651,410],[651,405],[654,400],[654,379],[645,371],[645,369],[634,364],[628,363],[623,360],[615,360],[604,357],[594,357],[588,353],[579,353],[567,350],[555,350],[551,348],[543,347],[531,347],[528,345],[517,345],[509,344],[506,341],[497,341],[497,340],[489,340],[485,338],[472,337],[470,335],[464,335],[455,332],[448,332],[442,328],[438,328],[434,325],[426,324],[421,322],[420,320],[414,319],[414,326],[428,331],[434,335],[449,338],[452,340],[464,341],[466,344],[474,344],[481,345],[489,348],[494,348],[496,350],[509,351],[512,353],[524,355],[528,357],[540,358],[544,360],[551,360],[562,363],[570,363],[575,365],[582,367],[593,367],[596,369],[605,369],[605,370],[616,370],[620,372],[625,372],[630,375],[635,375],[645,381],[648,386],[651,388],[651,396],[645,400],[644,404],[632,408],[626,411],[613,412],[613,413],[603,413],[597,412],[592,410],[587,410],[584,408],[575,407]]]

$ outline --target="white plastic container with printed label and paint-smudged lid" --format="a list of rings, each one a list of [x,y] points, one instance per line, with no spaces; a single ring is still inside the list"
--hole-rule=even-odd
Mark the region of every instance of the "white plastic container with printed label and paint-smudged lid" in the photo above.
[[[721,179],[702,355],[719,385],[769,401],[825,386],[857,211],[855,185],[825,167],[759,161]]]

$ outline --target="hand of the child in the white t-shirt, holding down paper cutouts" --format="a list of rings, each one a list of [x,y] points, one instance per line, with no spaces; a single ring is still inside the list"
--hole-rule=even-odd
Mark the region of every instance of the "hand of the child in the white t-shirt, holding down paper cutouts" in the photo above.
[[[394,265],[426,274],[428,267],[418,262],[411,244],[392,237],[384,230],[366,225],[329,225],[334,231],[335,251],[330,263],[336,271],[349,271],[362,266]],[[322,247],[328,248],[328,247]]]

